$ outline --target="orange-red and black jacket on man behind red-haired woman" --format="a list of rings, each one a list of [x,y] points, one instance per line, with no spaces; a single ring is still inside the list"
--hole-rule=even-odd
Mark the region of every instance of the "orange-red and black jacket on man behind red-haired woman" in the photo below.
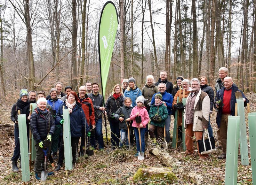
[[[79,97],[79,93],[77,94]],[[85,118],[88,125],[95,125],[95,117],[94,117],[94,108],[92,104],[92,100],[85,94],[85,98],[81,102],[78,98],[78,102],[82,105],[82,109],[84,110]]]

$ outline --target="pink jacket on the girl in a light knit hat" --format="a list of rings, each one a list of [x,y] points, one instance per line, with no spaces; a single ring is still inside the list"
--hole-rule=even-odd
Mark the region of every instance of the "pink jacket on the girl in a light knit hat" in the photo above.
[[[145,106],[139,108],[137,105],[132,109],[131,116],[130,116],[131,120],[133,120],[132,127],[137,127],[137,123],[135,121],[137,112],[140,112],[139,116],[141,116],[141,121],[142,121],[142,125],[143,125],[142,128],[146,128],[146,125],[149,122],[148,111],[146,110]]]

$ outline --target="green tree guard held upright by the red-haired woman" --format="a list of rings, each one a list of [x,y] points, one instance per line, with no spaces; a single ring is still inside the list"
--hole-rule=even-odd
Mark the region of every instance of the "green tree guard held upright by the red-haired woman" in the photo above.
[[[63,141],[64,141],[64,156],[65,156],[65,170],[72,170],[72,149],[70,137],[70,119],[68,109],[63,109]]]

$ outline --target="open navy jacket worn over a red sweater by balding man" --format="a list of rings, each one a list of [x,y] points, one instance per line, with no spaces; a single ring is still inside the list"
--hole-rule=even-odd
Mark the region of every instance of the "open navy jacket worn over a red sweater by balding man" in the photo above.
[[[231,99],[230,99],[230,111],[231,111],[230,115],[235,116],[235,105],[236,105],[235,92],[240,91],[242,93],[243,98],[245,98],[245,102],[244,102],[245,107],[247,106],[247,103],[249,103],[249,100],[244,96],[244,93],[241,90],[239,90],[238,87],[236,87],[236,85],[233,84],[231,89],[232,89],[232,92],[231,92]],[[220,90],[217,91],[216,97],[215,97],[215,102],[218,101],[218,100],[223,99],[224,90],[225,90],[225,88],[222,87]],[[214,107],[216,109],[216,104],[215,103],[214,103]],[[219,111],[218,111],[217,117],[216,117],[216,123],[217,123],[219,128],[220,128],[221,114],[222,114],[222,107],[219,108]]]

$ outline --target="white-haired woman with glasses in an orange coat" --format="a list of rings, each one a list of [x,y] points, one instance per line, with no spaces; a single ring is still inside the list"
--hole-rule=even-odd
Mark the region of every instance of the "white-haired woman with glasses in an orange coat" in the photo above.
[[[184,79],[181,82],[182,88],[177,91],[173,98],[172,107],[174,110],[178,110],[177,114],[177,124],[179,126],[178,129],[178,137],[182,140],[182,111],[185,108],[185,105],[182,104],[182,98],[188,97],[190,93],[190,81],[188,79]],[[177,97],[179,97],[179,102],[177,102]]]

